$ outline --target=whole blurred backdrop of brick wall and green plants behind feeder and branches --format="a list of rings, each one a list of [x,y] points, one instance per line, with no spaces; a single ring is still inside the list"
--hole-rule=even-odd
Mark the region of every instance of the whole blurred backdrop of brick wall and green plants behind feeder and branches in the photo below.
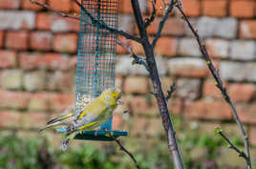
[[[38,0],[57,11],[79,14],[72,0]],[[151,1],[139,0],[148,16]],[[129,0],[120,0],[118,28],[138,34]],[[205,45],[245,123],[253,166],[256,164],[256,2],[254,0],[182,0],[183,10],[205,38]],[[158,16],[148,29],[153,39]],[[0,168],[135,168],[115,142],[75,140],[60,152],[60,134],[37,129],[75,100],[79,22],[32,5],[30,0],[0,0]],[[136,42],[120,37],[135,53]],[[196,40],[179,14],[168,18],[156,46],[162,88],[173,82],[169,100],[186,168],[245,168],[245,161],[214,135],[214,128],[243,148],[228,105],[214,85]],[[143,67],[117,46],[116,86],[125,105],[114,115],[114,129],[142,168],[172,168],[152,86]],[[123,114],[124,111],[129,113]]]

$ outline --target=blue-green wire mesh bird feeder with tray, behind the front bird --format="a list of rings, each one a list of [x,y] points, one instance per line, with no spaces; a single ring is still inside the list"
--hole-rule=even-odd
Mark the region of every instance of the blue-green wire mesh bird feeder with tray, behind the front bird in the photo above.
[[[81,5],[75,93],[77,115],[86,102],[105,89],[115,87],[117,57],[117,34],[104,26],[117,29],[118,0],[82,0]],[[107,131],[111,131],[113,137],[128,135],[127,132],[113,131],[112,123],[111,117],[99,131],[83,131],[75,138],[113,140]]]

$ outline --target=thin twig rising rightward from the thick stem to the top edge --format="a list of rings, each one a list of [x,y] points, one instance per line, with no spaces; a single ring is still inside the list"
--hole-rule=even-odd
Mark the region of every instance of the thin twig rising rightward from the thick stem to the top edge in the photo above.
[[[156,37],[154,38],[154,40],[152,42],[153,49],[155,48],[155,46],[156,46],[156,44],[157,44],[157,42],[158,42],[158,40],[160,38],[160,33],[161,33],[162,29],[163,29],[164,23],[166,22],[169,13],[173,10],[173,7],[174,7],[175,3],[176,3],[175,0],[170,0],[170,4],[168,6],[168,9],[167,9],[167,11],[165,11],[165,13],[164,13],[164,15],[163,15],[163,17],[162,17],[162,19],[160,21],[159,30],[157,32],[157,35],[156,35]]]

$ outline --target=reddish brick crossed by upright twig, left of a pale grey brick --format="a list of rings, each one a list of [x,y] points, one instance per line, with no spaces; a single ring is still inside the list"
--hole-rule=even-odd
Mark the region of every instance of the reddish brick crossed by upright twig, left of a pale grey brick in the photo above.
[[[149,34],[156,34],[159,29],[161,18],[158,17],[155,21],[148,27],[147,31]],[[138,31],[137,31],[138,32]],[[185,32],[184,23],[180,18],[168,18],[165,25],[161,31],[161,34],[167,35],[182,35]]]

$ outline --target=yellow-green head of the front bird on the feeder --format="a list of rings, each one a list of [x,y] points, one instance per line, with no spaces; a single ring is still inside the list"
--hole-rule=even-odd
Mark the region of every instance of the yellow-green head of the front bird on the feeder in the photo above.
[[[117,88],[109,88],[102,92],[101,99],[108,105],[122,104],[121,91]]]

